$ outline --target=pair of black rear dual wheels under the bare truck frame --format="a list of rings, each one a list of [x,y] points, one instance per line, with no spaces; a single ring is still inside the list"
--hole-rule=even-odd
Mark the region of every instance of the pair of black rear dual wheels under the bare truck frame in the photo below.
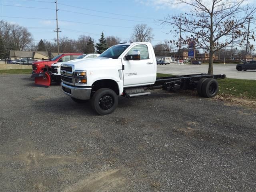
[[[196,89],[198,95],[212,98],[218,93],[219,86],[217,80],[214,78],[202,78],[198,81]]]

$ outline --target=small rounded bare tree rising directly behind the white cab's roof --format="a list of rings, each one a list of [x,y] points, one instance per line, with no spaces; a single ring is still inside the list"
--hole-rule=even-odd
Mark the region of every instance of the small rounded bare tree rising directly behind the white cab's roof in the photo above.
[[[134,27],[131,40],[134,42],[151,42],[153,29],[147,24],[138,24]]]

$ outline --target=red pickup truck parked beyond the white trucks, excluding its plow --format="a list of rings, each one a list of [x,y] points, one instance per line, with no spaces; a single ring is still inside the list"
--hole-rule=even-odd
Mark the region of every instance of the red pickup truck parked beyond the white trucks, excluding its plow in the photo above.
[[[53,63],[57,62],[65,62],[70,61],[73,59],[78,58],[78,56],[82,55],[81,53],[68,53],[68,54],[60,54],[56,57],[52,58],[51,60],[43,60],[43,61],[37,61],[32,64],[32,73],[39,72],[43,68],[45,68],[45,65],[52,66]]]

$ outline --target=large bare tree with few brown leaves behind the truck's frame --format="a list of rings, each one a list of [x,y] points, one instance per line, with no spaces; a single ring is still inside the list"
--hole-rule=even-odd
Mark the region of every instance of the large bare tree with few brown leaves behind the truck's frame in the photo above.
[[[184,38],[179,37],[184,44],[194,41],[198,48],[208,50],[208,74],[213,74],[213,55],[216,51],[232,43],[246,43],[248,18],[255,14],[256,8],[244,3],[244,0],[178,0],[177,4],[188,5],[190,12],[181,16],[168,15],[161,22],[174,27],[170,31],[176,35],[174,37],[180,32],[186,34]],[[251,22],[255,22],[255,18],[251,18]],[[253,34],[248,38],[254,38]]]

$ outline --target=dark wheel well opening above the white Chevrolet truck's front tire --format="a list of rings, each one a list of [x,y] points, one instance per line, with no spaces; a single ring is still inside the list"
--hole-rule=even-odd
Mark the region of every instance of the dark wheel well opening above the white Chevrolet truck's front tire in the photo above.
[[[98,80],[92,84],[92,94],[94,94],[100,88],[109,88],[119,95],[118,84],[111,79]]]

